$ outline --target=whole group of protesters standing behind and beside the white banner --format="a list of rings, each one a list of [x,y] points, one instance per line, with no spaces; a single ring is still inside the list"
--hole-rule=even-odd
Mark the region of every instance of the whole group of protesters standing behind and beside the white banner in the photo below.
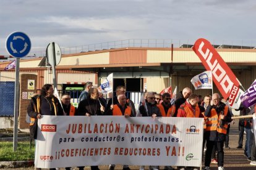
[[[226,103],[221,102],[221,97],[218,93],[213,95],[206,95],[204,100],[201,101],[197,94],[192,94],[192,90],[189,87],[184,88],[176,95],[174,103],[171,102],[172,96],[169,93],[156,94],[155,92],[145,92],[144,99],[145,104],[140,105],[136,110],[134,102],[127,99],[126,88],[124,86],[116,87],[116,95],[113,99],[109,99],[108,102],[104,99],[103,95],[97,88],[93,87],[92,82],[85,84],[85,91],[79,97],[79,106],[76,109],[70,103],[70,95],[63,94],[61,101],[59,101],[53,95],[53,86],[51,84],[45,84],[41,89],[41,94],[32,98],[28,105],[28,115],[31,118],[30,130],[34,134],[36,139],[36,124],[37,119],[41,118],[41,115],[67,115],[67,116],[150,116],[155,117],[184,117],[184,118],[203,118],[204,119],[204,133],[203,133],[203,148],[206,144],[205,152],[205,168],[210,169],[210,163],[218,163],[218,169],[224,169],[224,142],[227,139],[227,133],[229,131],[229,123],[231,123],[232,112]],[[246,111],[241,106],[239,108],[242,114]],[[256,165],[255,161],[255,139],[252,132],[251,119],[244,121],[244,129],[248,141],[245,145],[245,155],[250,158],[250,163]],[[239,121],[240,122],[240,121]],[[240,127],[239,123],[239,127]],[[250,132],[249,126],[250,125]],[[240,128],[242,131],[242,129]],[[244,132],[242,132],[243,135]],[[225,142],[225,146],[228,144]],[[242,146],[239,143],[239,147]],[[253,152],[254,150],[254,152]],[[250,152],[252,151],[252,152]],[[218,160],[213,161],[217,155]],[[254,164],[255,163],[255,164]],[[149,164],[150,165],[150,164]],[[81,166],[79,169],[83,169]],[[114,164],[109,165],[109,170],[115,168]],[[140,170],[143,170],[145,166],[140,166]],[[54,168],[55,169],[55,168]],[[72,169],[72,168],[66,168]],[[98,166],[91,166],[92,170],[98,170]],[[123,165],[123,169],[129,170],[128,165]],[[150,169],[159,169],[159,166],[150,166]],[[164,169],[173,169],[171,166],[164,166]],[[192,167],[178,167],[178,169],[198,169]]]

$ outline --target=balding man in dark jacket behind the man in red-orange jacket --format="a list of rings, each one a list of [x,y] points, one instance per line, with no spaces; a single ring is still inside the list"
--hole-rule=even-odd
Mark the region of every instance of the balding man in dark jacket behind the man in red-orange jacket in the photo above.
[[[182,92],[177,93],[176,101],[174,102],[176,107],[174,117],[177,117],[177,110],[183,103],[186,102],[186,99],[189,98],[190,94],[192,94],[192,90],[189,87],[185,87]]]

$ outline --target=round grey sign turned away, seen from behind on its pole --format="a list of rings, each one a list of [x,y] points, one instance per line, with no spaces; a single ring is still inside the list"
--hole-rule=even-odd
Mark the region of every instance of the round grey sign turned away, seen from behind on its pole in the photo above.
[[[49,43],[46,49],[46,57],[51,66],[58,65],[61,62],[61,48],[59,45],[55,42]]]

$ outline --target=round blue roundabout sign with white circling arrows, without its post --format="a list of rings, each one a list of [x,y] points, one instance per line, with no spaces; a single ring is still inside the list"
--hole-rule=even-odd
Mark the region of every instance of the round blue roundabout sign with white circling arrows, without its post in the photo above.
[[[13,57],[25,57],[31,49],[31,42],[27,34],[14,32],[6,39],[6,50]]]

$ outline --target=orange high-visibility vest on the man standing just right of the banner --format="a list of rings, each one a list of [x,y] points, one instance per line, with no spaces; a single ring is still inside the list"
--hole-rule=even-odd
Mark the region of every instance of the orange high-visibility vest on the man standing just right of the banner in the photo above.
[[[224,108],[224,116],[228,114],[228,107]],[[221,114],[220,114],[221,115]],[[211,109],[211,116],[208,117],[206,131],[218,131],[221,134],[227,134],[228,123],[224,123],[224,126],[220,126],[220,115],[216,112],[215,108]]]

